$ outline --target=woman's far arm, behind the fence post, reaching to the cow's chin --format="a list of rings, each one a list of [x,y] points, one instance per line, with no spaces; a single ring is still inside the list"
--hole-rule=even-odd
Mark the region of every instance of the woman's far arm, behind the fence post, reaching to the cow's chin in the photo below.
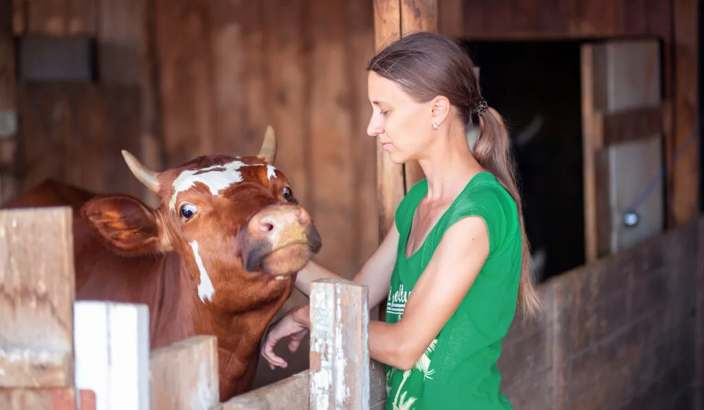
[[[384,241],[379,248],[372,253],[367,261],[362,265],[360,271],[352,279],[357,283],[363,283],[369,288],[369,308],[373,309],[380,302],[386,299],[389,293],[389,281],[391,272],[396,264],[396,250],[398,246],[398,230],[396,224],[392,224],[389,233],[386,233]],[[296,277],[296,289],[305,295],[310,293],[310,282],[322,278],[342,279],[329,269],[320,266],[317,262],[310,261],[303,267]]]

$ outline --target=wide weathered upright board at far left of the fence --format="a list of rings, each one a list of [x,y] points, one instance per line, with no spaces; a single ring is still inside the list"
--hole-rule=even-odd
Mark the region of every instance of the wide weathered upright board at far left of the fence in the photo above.
[[[0,386],[73,386],[72,214],[0,211]]]

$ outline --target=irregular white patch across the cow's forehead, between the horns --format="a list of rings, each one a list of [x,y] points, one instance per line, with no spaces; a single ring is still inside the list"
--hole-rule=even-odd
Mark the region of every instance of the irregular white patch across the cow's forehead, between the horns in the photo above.
[[[218,195],[223,189],[227,189],[232,184],[238,184],[242,181],[242,174],[239,172],[241,167],[267,167],[267,177],[269,179],[276,178],[276,168],[266,164],[246,164],[240,160],[228,162],[225,165],[213,165],[203,169],[187,169],[181,172],[173,181],[174,193],[169,201],[169,208],[172,212],[176,211],[176,198],[178,194],[187,191],[196,182],[205,184],[210,189],[213,196]]]

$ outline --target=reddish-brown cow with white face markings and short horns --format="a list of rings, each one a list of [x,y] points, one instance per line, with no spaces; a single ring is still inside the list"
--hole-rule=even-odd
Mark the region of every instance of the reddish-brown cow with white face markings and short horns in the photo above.
[[[142,303],[150,348],[194,335],[218,340],[220,400],[251,389],[260,340],[321,239],[272,163],[269,127],[257,155],[207,155],[153,172],[122,150],[161,200],[44,181],[4,208],[73,209],[77,300]]]

